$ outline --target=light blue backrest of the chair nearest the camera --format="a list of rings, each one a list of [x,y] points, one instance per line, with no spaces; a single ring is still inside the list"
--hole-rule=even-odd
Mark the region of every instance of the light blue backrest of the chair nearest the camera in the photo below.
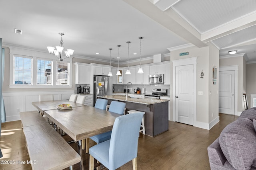
[[[137,157],[143,113],[117,117],[110,138],[109,169],[117,169]]]

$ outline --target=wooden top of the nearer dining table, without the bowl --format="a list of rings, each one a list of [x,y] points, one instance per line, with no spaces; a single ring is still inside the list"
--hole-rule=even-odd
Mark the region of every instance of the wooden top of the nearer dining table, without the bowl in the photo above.
[[[45,110],[44,114],[74,141],[111,131],[116,117],[121,116],[91,106]]]

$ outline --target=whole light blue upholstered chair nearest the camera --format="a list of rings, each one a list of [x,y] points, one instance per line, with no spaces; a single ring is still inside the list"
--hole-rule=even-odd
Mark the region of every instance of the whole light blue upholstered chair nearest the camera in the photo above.
[[[115,170],[132,160],[137,169],[138,135],[143,113],[117,117],[111,139],[89,149],[89,169],[94,169],[94,158],[109,170]]]

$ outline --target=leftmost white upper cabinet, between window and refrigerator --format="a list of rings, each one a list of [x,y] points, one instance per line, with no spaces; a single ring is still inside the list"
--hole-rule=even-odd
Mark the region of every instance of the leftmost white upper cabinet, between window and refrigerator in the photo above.
[[[86,63],[75,64],[75,83],[90,84],[90,65]]]

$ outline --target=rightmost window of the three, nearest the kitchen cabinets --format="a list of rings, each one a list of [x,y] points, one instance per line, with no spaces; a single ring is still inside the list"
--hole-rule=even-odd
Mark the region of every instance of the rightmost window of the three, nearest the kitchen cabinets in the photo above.
[[[56,85],[69,85],[69,63],[56,61]]]

